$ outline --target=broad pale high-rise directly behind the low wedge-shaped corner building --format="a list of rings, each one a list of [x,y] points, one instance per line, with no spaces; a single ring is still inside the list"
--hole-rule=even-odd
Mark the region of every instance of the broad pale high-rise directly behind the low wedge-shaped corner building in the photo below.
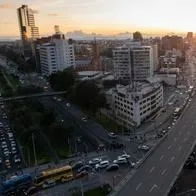
[[[113,50],[115,78],[142,81],[153,76],[153,53],[151,46],[131,42]]]

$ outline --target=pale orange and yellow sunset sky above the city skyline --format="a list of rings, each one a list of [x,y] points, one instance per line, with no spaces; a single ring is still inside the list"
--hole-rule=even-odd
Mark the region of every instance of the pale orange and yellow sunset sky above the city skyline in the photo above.
[[[196,31],[194,0],[0,0],[0,36],[19,36],[16,9],[35,10],[41,35],[82,30],[116,34],[125,31]]]

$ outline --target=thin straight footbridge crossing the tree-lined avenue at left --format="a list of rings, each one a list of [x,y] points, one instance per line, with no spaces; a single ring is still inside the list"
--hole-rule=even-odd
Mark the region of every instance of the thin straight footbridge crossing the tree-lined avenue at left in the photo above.
[[[14,101],[14,100],[20,100],[20,99],[26,99],[26,98],[33,98],[33,97],[46,97],[46,96],[54,96],[54,95],[63,95],[66,92],[67,91],[54,91],[54,92],[44,92],[44,93],[20,95],[20,96],[15,96],[15,97],[5,97],[5,98],[0,98],[0,102]]]

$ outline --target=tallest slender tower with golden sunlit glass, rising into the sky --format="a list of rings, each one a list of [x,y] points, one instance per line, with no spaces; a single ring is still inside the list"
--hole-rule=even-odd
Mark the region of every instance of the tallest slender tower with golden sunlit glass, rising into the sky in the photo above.
[[[25,58],[32,55],[32,41],[39,38],[39,29],[35,26],[34,12],[27,5],[17,9],[21,39]]]

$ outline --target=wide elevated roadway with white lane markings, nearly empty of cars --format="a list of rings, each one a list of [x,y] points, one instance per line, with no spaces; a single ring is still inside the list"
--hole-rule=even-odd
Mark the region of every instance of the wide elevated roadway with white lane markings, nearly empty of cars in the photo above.
[[[196,97],[175,127],[137,169],[122,180],[111,196],[166,196],[196,143]],[[128,152],[127,152],[128,153]]]

